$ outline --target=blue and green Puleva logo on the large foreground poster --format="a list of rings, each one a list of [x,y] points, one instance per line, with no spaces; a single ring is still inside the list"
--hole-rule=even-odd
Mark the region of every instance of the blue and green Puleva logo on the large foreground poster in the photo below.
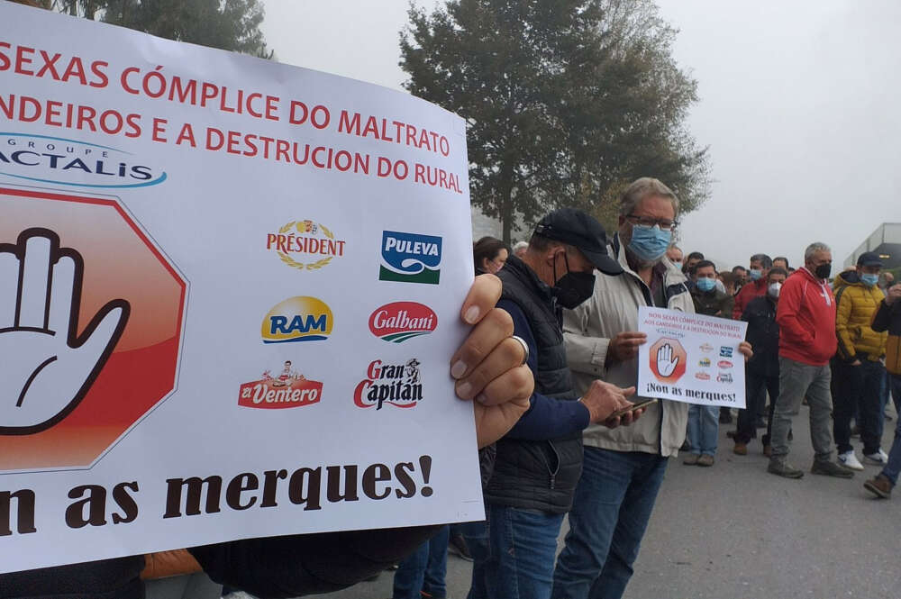
[[[440,266],[441,237],[382,231],[378,280],[438,285]]]

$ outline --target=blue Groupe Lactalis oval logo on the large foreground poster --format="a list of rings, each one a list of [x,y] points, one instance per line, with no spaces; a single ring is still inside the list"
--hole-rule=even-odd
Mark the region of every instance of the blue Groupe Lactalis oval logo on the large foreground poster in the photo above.
[[[131,152],[48,135],[0,132],[0,175],[79,187],[146,187],[166,180]]]

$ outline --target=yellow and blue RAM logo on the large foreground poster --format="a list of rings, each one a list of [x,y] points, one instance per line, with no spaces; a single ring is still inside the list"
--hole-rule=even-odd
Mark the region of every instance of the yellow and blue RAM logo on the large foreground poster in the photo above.
[[[263,343],[322,341],[332,334],[332,310],[321,299],[289,297],[266,314],[260,333]]]

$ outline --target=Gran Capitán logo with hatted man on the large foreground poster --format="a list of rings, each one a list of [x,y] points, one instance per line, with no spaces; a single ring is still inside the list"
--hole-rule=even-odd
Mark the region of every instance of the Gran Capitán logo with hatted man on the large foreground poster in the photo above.
[[[353,390],[353,403],[358,408],[381,410],[385,404],[412,408],[422,400],[423,383],[416,358],[404,364],[384,364],[380,359],[369,362],[366,378]]]

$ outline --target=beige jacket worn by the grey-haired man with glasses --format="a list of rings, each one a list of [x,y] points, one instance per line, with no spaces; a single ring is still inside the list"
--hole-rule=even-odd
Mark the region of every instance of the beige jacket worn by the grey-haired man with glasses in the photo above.
[[[611,255],[614,255],[610,248]],[[567,360],[573,382],[583,395],[591,382],[600,378],[616,386],[629,387],[638,381],[638,360],[606,365],[607,346],[617,333],[638,330],[638,307],[647,305],[645,291],[651,293],[625,259],[625,250],[616,256],[625,272],[616,277],[595,272],[595,293],[575,310],[563,311],[563,331]],[[668,259],[664,288],[670,310],[694,313],[695,304],[684,283],[686,277]],[[681,288],[679,288],[681,287]],[[608,368],[609,367],[609,368]],[[639,396],[633,396],[638,401]],[[583,433],[588,447],[615,451],[643,451],[664,457],[675,456],[685,440],[688,404],[661,400],[651,404],[638,422],[610,430],[591,424]],[[661,434],[662,433],[662,434]]]

